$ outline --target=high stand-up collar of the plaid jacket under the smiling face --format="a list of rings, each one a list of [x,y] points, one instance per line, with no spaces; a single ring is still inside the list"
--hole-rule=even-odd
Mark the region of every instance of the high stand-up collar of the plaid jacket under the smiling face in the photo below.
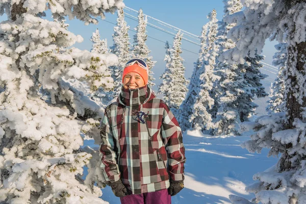
[[[147,85],[137,89],[125,89],[122,86],[117,100],[124,106],[138,106],[146,103],[151,95],[152,90]]]

